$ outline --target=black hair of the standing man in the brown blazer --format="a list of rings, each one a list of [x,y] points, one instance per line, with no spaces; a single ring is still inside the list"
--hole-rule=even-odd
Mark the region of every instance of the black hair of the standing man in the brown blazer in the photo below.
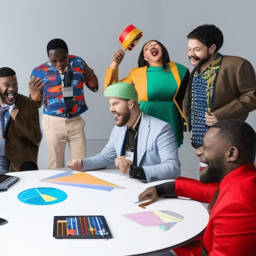
[[[187,36],[187,39],[197,39],[207,47],[212,44],[216,45],[218,51],[223,44],[223,34],[215,25],[204,24],[194,28]]]

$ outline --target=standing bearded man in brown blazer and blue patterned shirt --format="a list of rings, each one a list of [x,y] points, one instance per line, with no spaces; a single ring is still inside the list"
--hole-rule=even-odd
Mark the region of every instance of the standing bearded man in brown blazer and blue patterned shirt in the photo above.
[[[188,57],[194,69],[183,112],[191,131],[191,144],[198,148],[213,123],[224,119],[245,120],[256,108],[256,78],[249,61],[218,52],[223,34],[215,25],[198,26],[187,38]]]

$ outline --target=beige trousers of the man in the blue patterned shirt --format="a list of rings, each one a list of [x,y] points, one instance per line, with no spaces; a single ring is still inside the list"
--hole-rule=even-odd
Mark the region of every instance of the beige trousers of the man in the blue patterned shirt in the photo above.
[[[86,157],[84,124],[80,115],[72,118],[42,115],[42,129],[48,145],[48,169],[65,166],[66,142],[71,160]]]

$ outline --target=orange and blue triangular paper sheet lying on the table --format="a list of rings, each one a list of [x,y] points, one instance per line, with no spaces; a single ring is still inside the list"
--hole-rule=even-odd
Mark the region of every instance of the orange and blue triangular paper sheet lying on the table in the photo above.
[[[123,188],[122,186],[118,186],[111,182],[94,177],[85,172],[78,172],[78,173],[73,173],[72,171],[62,172],[62,173],[41,179],[39,181],[54,183],[54,184],[61,184],[61,185],[100,189],[100,190],[106,190],[106,191],[111,191],[113,188]]]

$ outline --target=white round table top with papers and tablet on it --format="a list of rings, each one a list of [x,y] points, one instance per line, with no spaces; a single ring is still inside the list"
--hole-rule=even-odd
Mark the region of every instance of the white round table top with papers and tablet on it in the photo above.
[[[116,170],[86,172],[124,187],[111,191],[38,181],[61,172],[7,173],[20,177],[20,180],[0,193],[0,217],[8,220],[8,223],[0,225],[0,255],[145,255],[168,250],[190,240],[202,232],[208,222],[207,210],[194,200],[159,198],[146,209],[134,203],[145,188],[169,180],[142,183]],[[19,192],[34,187],[61,189],[67,198],[51,205],[29,205],[18,200]],[[145,210],[170,210],[183,215],[184,219],[163,231],[159,226],[145,227],[123,216]],[[56,239],[52,236],[53,216],[61,215],[104,215],[113,238]]]

